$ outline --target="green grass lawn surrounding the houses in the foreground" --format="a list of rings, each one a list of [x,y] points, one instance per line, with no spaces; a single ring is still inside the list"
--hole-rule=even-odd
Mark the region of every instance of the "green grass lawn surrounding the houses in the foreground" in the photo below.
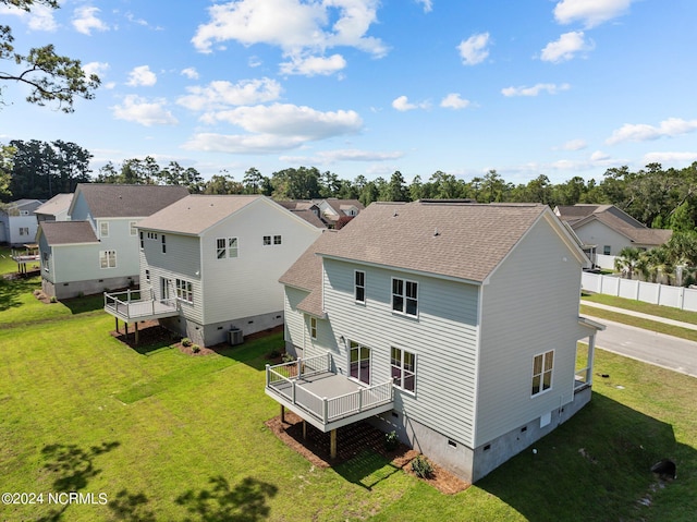
[[[0,520],[692,521],[697,379],[603,351],[591,403],[476,486],[445,496],[363,452],[310,465],[264,422],[266,354],[279,336],[225,353],[130,349],[98,303],[41,304],[3,288],[2,491],[106,494],[106,505],[0,505]],[[9,303],[9,304],[8,304]],[[96,308],[96,309],[95,309]],[[26,314],[23,316],[23,312]],[[583,449],[583,451],[582,451]],[[678,479],[649,472],[663,457]],[[650,499],[650,506],[641,500]]]

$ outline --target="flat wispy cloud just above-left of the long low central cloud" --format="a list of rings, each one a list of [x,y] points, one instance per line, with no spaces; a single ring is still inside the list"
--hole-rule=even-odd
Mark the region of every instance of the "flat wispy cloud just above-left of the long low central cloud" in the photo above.
[[[189,93],[176,102],[191,110],[216,110],[231,106],[256,105],[273,101],[281,95],[281,85],[276,80],[243,80],[236,84],[217,81],[207,87],[186,87]]]

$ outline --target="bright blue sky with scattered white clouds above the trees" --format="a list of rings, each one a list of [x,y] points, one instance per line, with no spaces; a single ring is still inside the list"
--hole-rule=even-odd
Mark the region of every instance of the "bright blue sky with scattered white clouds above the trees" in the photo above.
[[[0,143],[74,142],[95,172],[150,155],[205,178],[517,184],[697,161],[694,0],[60,3],[0,20],[17,50],[52,43],[102,85],[72,114],[7,85]]]

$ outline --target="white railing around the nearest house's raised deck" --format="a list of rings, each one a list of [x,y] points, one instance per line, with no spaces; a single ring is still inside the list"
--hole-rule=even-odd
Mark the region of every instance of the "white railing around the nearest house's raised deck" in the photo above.
[[[332,398],[319,397],[297,385],[299,379],[330,372],[330,353],[274,366],[267,365],[266,387],[323,424],[392,402],[391,380]]]

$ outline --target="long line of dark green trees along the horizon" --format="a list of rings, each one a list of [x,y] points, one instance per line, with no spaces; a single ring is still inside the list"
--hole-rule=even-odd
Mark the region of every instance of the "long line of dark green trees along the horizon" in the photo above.
[[[390,178],[341,179],[316,167],[288,168],[264,175],[252,167],[237,179],[221,171],[209,180],[176,161],[160,166],[155,158],[133,158],[120,165],[109,161],[93,175],[93,155],[70,142],[32,139],[0,145],[0,198],[48,199],[73,192],[77,183],[130,183],[183,185],[194,194],[264,194],[276,199],[338,197],[372,202],[461,199],[478,203],[542,203],[557,205],[612,204],[653,228],[694,231],[697,224],[697,162],[683,169],[649,163],[636,172],[627,167],[608,169],[600,181],[574,177],[552,183],[540,174],[527,183],[506,182],[496,170],[470,180],[437,170],[407,183],[400,171]]]

